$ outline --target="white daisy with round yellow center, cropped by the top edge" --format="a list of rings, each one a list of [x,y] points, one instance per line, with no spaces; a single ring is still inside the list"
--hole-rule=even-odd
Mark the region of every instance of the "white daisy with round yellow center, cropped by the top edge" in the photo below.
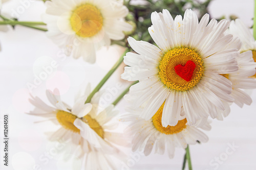
[[[46,2],[48,36],[66,54],[74,58],[83,57],[87,62],[95,62],[95,53],[112,40],[124,38],[123,31],[131,31],[132,26],[124,21],[128,9],[122,1],[112,0],[53,0]]]

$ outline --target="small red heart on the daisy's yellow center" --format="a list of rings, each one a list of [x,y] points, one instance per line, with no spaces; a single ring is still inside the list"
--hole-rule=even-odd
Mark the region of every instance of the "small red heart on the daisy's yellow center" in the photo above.
[[[179,64],[174,67],[176,74],[187,82],[191,80],[195,68],[196,64],[190,60],[184,66]]]

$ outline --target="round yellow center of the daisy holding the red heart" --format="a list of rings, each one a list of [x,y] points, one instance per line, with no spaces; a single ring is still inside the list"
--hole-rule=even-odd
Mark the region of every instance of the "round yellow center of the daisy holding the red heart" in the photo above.
[[[194,70],[187,69],[187,63],[194,63]],[[181,74],[177,73],[177,66],[180,66]],[[204,72],[201,56],[195,50],[183,46],[166,52],[159,62],[158,68],[158,75],[163,84],[167,88],[177,91],[186,91],[196,86]],[[186,77],[189,74],[190,78],[187,80]]]

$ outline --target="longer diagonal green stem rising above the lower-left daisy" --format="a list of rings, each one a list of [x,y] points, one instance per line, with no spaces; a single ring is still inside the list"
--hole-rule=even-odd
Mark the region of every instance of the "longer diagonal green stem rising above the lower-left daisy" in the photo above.
[[[123,57],[127,52],[129,52],[129,48],[126,48],[122,56],[119,58],[119,60],[115,63],[115,65],[109,70],[109,72],[105,75],[105,77],[99,82],[99,84],[94,88],[94,90],[89,94],[86,103],[90,103],[93,95],[99,91],[99,89],[105,84],[105,82],[110,78],[110,76],[113,74],[113,72],[118,68],[118,66],[123,62]]]

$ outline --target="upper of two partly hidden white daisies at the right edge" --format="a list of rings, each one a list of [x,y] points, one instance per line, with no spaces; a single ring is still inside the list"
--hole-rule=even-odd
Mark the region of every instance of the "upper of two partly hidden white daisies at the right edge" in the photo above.
[[[253,38],[251,30],[245,26],[240,19],[232,20],[229,26],[229,33],[238,37],[242,41],[240,52],[251,51],[254,62],[256,61],[256,41]],[[252,76],[256,78],[254,74]]]

